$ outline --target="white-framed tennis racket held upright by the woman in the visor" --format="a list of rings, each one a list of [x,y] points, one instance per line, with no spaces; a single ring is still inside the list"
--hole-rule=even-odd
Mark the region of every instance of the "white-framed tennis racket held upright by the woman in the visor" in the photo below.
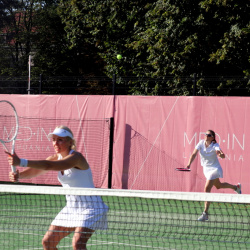
[[[0,142],[11,154],[15,151],[17,132],[18,116],[14,105],[9,101],[0,100]],[[11,169],[16,172],[15,166],[11,166]]]

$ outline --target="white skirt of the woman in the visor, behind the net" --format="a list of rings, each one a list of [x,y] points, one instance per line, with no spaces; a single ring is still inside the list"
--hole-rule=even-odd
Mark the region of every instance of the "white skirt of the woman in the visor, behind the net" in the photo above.
[[[108,206],[99,196],[66,196],[67,204],[51,225],[62,227],[85,227],[92,230],[108,228]]]

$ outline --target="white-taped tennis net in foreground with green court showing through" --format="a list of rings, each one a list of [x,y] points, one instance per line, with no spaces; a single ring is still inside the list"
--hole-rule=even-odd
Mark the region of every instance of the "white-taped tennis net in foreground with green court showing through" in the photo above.
[[[250,195],[0,185],[0,249],[43,249],[65,195],[98,195],[109,207],[108,229],[87,249],[250,248]],[[200,222],[205,200],[209,220]],[[58,249],[72,249],[72,237]]]

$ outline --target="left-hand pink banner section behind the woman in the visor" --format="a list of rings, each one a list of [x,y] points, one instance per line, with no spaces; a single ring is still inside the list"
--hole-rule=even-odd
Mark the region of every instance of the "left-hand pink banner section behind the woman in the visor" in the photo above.
[[[19,116],[15,145],[19,157],[35,160],[54,154],[48,134],[56,126],[66,125],[74,133],[77,150],[84,154],[91,166],[95,186],[107,187],[112,96],[1,95],[0,99],[13,103]],[[10,128],[5,131],[1,136],[6,136]],[[10,167],[4,148],[0,151],[0,162],[0,181],[8,181]],[[22,182],[59,184],[56,172]]]

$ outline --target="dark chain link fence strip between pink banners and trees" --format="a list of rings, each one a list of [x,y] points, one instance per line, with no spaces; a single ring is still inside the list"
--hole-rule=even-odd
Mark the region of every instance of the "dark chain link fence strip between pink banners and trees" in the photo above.
[[[250,96],[243,76],[122,77],[0,76],[1,94]]]

